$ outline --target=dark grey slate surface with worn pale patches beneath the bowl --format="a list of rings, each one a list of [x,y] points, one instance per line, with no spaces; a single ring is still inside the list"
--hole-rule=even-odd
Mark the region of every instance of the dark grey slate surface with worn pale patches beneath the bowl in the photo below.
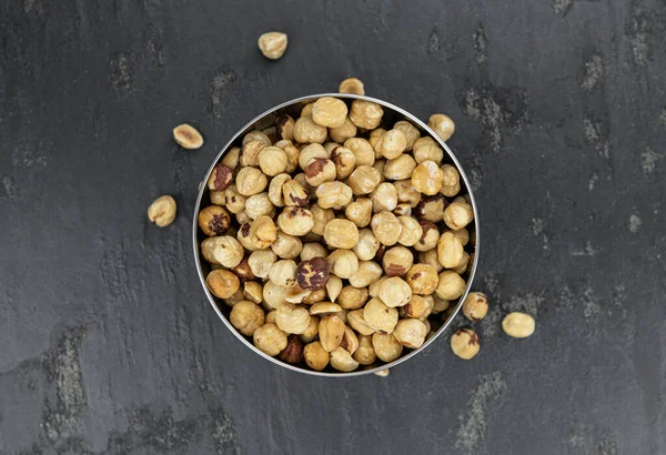
[[[0,453],[666,453],[665,33],[660,0],[0,2]],[[493,304],[473,362],[446,335],[389,378],[290,373],[200,289],[219,148],[347,75],[456,121]]]

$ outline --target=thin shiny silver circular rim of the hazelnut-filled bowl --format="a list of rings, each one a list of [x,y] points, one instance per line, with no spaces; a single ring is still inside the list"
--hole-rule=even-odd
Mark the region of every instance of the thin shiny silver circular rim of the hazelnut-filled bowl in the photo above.
[[[463,292],[463,294],[461,295],[461,297],[458,299],[458,303],[456,304],[455,309],[453,310],[453,312],[451,313],[451,315],[448,316],[448,318],[446,320],[446,322],[444,322],[444,324],[440,327],[440,330],[437,332],[435,332],[435,334],[430,338],[426,340],[425,343],[423,343],[423,345],[412,352],[410,352],[408,354],[401,356],[396,360],[394,360],[393,362],[386,363],[384,365],[380,365],[376,366],[374,368],[367,368],[367,370],[357,370],[357,371],[353,371],[353,372],[337,372],[337,373],[333,373],[333,372],[317,372],[314,370],[305,370],[292,364],[289,364],[286,362],[283,362],[276,357],[272,357],[268,354],[265,354],[264,352],[262,352],[261,350],[259,350],[256,346],[254,346],[254,344],[252,344],[250,341],[248,341],[232,324],[231,322],[224,316],[224,314],[220,311],[220,309],[218,307],[218,304],[215,303],[215,299],[213,297],[213,295],[211,294],[210,290],[208,289],[206,284],[205,284],[205,276],[203,275],[203,271],[202,271],[202,265],[201,265],[201,257],[200,257],[200,245],[199,245],[199,241],[198,241],[198,231],[199,231],[199,222],[198,222],[198,216],[199,216],[199,211],[200,211],[200,206],[201,206],[201,200],[203,198],[203,193],[206,190],[206,182],[211,175],[211,172],[213,171],[213,168],[215,166],[215,164],[218,164],[218,162],[220,161],[220,159],[224,155],[224,153],[230,150],[231,145],[236,141],[236,139],[239,136],[241,136],[243,133],[246,132],[246,130],[254,125],[256,122],[263,120],[266,115],[271,115],[273,114],[275,111],[279,111],[281,109],[284,108],[289,108],[295,103],[299,102],[303,102],[303,101],[310,101],[313,99],[319,99],[319,98],[324,98],[324,97],[333,97],[333,98],[339,98],[339,99],[351,99],[351,100],[364,100],[364,101],[371,101],[374,103],[380,104],[382,108],[389,108],[400,114],[402,114],[405,120],[408,120],[410,122],[416,124],[417,127],[420,127],[421,129],[423,129],[425,132],[427,132],[431,138],[433,140],[435,140],[440,146],[442,146],[442,149],[448,154],[448,158],[453,161],[453,163],[455,164],[458,173],[461,174],[461,178],[463,179],[463,181],[465,182],[466,189],[467,189],[467,194],[470,195],[470,201],[472,204],[472,209],[474,211],[474,228],[475,228],[475,232],[476,232],[476,244],[475,246],[475,251],[474,251],[474,264],[472,265],[472,271],[470,272],[470,276],[467,279],[467,283],[465,285],[465,291]],[[224,146],[222,146],[222,149],[220,150],[220,152],[218,152],[218,154],[215,155],[212,164],[210,165],[208,172],[205,173],[205,176],[203,178],[200,188],[199,188],[199,192],[196,194],[196,202],[194,204],[194,213],[193,213],[193,220],[192,220],[192,240],[193,240],[193,252],[194,252],[194,263],[196,265],[196,273],[199,274],[199,281],[201,282],[201,286],[203,287],[203,291],[205,293],[205,295],[208,296],[209,303],[211,304],[211,306],[213,307],[213,311],[218,314],[218,316],[222,320],[222,322],[224,323],[224,325],[226,326],[226,328],[229,328],[231,331],[231,333],[233,333],[235,335],[236,338],[239,338],[243,344],[245,344],[246,347],[249,347],[250,350],[252,350],[254,353],[259,354],[260,356],[262,356],[263,358],[274,363],[275,365],[280,365],[282,367],[285,367],[287,370],[294,371],[294,372],[299,372],[299,373],[303,373],[303,374],[310,374],[313,376],[320,376],[320,377],[353,377],[353,376],[363,376],[366,374],[372,374],[372,373],[376,373],[380,372],[382,370],[386,370],[386,368],[393,368],[400,364],[402,364],[403,362],[408,361],[410,358],[414,357],[416,354],[421,353],[422,351],[424,351],[427,346],[430,346],[432,343],[434,343],[434,341],[443,333],[446,331],[446,328],[452,324],[453,320],[457,316],[457,313],[460,312],[463,302],[465,301],[465,297],[467,296],[467,294],[470,293],[470,290],[472,287],[472,283],[474,282],[474,276],[476,274],[476,269],[478,266],[478,255],[480,255],[480,251],[481,251],[481,237],[480,237],[480,229],[478,229],[478,209],[476,205],[476,200],[474,198],[474,193],[472,191],[472,185],[470,183],[470,179],[467,178],[467,175],[465,174],[465,171],[463,170],[463,166],[461,165],[460,161],[457,160],[457,158],[455,156],[455,154],[453,153],[453,151],[448,148],[448,145],[446,145],[446,142],[444,142],[425,122],[423,122],[422,120],[420,120],[416,115],[405,111],[402,108],[398,108],[397,105],[394,105],[390,102],[386,102],[384,100],[380,100],[376,98],[372,98],[372,97],[366,97],[366,95],[360,95],[360,94],[352,94],[352,93],[319,93],[319,94],[311,94],[311,95],[305,95],[305,97],[299,97],[299,98],[294,98],[292,100],[282,102],[271,109],[268,109],[266,111],[262,112],[261,114],[256,115],[255,118],[253,118],[251,121],[249,121],[245,125],[243,125],[242,128],[240,128],[235,134],[233,134],[231,136],[231,139],[224,144]]]

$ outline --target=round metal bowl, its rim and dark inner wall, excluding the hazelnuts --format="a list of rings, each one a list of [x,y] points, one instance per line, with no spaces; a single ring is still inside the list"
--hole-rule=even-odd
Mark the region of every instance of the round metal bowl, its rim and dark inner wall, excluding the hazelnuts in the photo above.
[[[447,156],[444,158],[444,161],[455,165],[456,169],[458,170],[461,178],[462,178],[461,192],[465,191],[470,195],[472,208],[474,209],[474,223],[473,223],[473,225],[470,225],[467,229],[474,230],[476,233],[476,249],[475,249],[475,254],[474,254],[474,262],[472,264],[472,269],[467,276],[467,285],[465,286],[465,292],[458,299],[455,309],[450,314],[446,322],[444,322],[444,324],[442,324],[442,326],[440,327],[440,330],[437,330],[437,332],[435,333],[434,336],[432,336],[430,340],[426,340],[426,342],[423,343],[423,345],[421,347],[418,347],[417,350],[408,352],[407,354],[396,358],[393,362],[390,362],[386,364],[371,365],[370,367],[365,367],[365,370],[353,371],[350,373],[336,372],[329,367],[325,371],[317,372],[314,370],[310,370],[306,366],[292,365],[292,364],[281,361],[278,357],[271,357],[271,356],[264,354],[263,352],[261,352],[259,348],[256,348],[252,344],[251,338],[245,337],[233,325],[231,325],[231,323],[229,322],[231,306],[228,306],[224,303],[222,303],[218,297],[215,297],[209,291],[208,286],[205,285],[205,276],[211,271],[211,269],[210,269],[210,265],[205,261],[202,261],[202,257],[201,257],[200,244],[204,239],[206,239],[206,235],[203,234],[199,230],[199,224],[198,224],[198,215],[199,215],[200,208],[208,206],[210,204],[209,189],[208,189],[208,185],[205,185],[203,183],[201,184],[201,186],[199,189],[199,194],[196,195],[196,204],[194,206],[194,215],[193,215],[193,221],[192,221],[192,241],[193,241],[193,247],[194,247],[194,262],[196,264],[196,272],[199,273],[199,280],[201,281],[203,291],[205,292],[205,295],[208,296],[209,302],[211,303],[213,310],[215,311],[215,313],[218,313],[218,316],[220,316],[220,318],[226,325],[226,327],[242,343],[244,343],[245,346],[248,346],[250,350],[252,350],[253,352],[255,352],[256,354],[261,355],[262,357],[264,357],[265,360],[268,360],[270,362],[273,362],[280,366],[283,366],[285,368],[293,370],[293,371],[300,372],[300,373],[312,374],[315,376],[334,376],[334,377],[361,376],[364,374],[377,373],[377,372],[386,370],[386,368],[392,368],[392,367],[407,361],[408,358],[412,358],[413,356],[418,354],[421,351],[425,350],[431,343],[433,343],[435,341],[435,338],[437,338],[437,336],[440,336],[446,330],[446,327],[451,324],[453,318],[457,315],[458,311],[463,306],[463,302],[465,301],[467,293],[470,292],[472,282],[474,281],[474,274],[476,273],[476,266],[478,263],[478,251],[480,251],[480,245],[481,245],[480,235],[478,235],[478,210],[476,206],[476,201],[474,199],[474,194],[473,194],[471,185],[470,185],[470,180],[467,179],[467,175],[463,171],[461,163],[457,161],[457,159],[455,158],[455,155],[453,154],[451,149],[446,145],[446,143],[444,141],[442,141],[435,134],[434,131],[432,131],[418,118],[416,118],[415,115],[408,113],[407,111],[405,111],[396,105],[387,103],[386,101],[377,100],[375,98],[363,97],[363,95],[357,95],[357,94],[350,94],[350,93],[322,93],[322,94],[302,97],[302,98],[297,98],[297,99],[284,102],[282,104],[279,104],[279,105],[271,108],[268,111],[261,113],[260,115],[258,115],[256,118],[251,120],[245,127],[240,129],[229,140],[229,142],[226,142],[226,144],[222,148],[220,153],[218,153],[218,155],[211,163],[211,166],[209,168],[208,172],[203,176],[203,182],[204,183],[208,182],[209,176],[210,176],[211,172],[213,171],[214,165],[222,159],[224,153],[228,150],[230,150],[232,146],[240,145],[244,134],[246,134],[248,132],[250,132],[252,130],[263,130],[265,128],[274,125],[275,119],[276,119],[278,114],[280,114],[280,113],[287,113],[294,118],[297,118],[300,115],[301,109],[303,108],[304,104],[306,104],[311,101],[314,101],[319,98],[322,98],[322,97],[334,97],[334,98],[344,100],[347,104],[351,104],[351,102],[356,99],[372,101],[372,102],[380,104],[384,109],[384,117],[382,119],[382,124],[394,124],[395,122],[397,122],[400,120],[407,120],[414,127],[418,128],[422,132],[425,132],[431,138],[433,138],[447,154]]]

